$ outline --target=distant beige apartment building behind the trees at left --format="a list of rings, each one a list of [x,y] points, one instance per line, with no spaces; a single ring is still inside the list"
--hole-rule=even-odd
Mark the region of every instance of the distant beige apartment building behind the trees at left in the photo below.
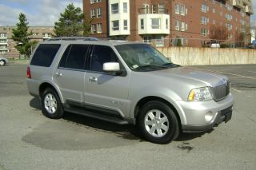
[[[12,30],[16,26],[0,26],[0,55],[7,57],[18,57],[19,53],[15,49],[16,42],[11,38]],[[32,32],[30,40],[37,42],[46,41],[54,34],[53,26],[30,26],[29,32]]]

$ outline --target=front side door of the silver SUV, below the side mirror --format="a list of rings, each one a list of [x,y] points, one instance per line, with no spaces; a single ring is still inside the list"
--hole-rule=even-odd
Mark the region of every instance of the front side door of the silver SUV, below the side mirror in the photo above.
[[[114,50],[110,46],[94,45],[89,62],[85,77],[86,107],[93,106],[94,109],[103,109],[106,113],[109,111],[126,116],[129,77],[126,76]],[[124,74],[118,76],[104,72],[102,65],[106,62],[119,62]]]

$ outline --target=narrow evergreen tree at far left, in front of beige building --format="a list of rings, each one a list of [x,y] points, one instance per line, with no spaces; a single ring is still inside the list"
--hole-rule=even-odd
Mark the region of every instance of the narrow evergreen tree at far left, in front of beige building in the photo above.
[[[25,56],[30,56],[31,54],[31,45],[34,45],[36,42],[30,42],[30,35],[32,34],[29,32],[29,22],[26,21],[25,14],[19,14],[18,16],[18,23],[16,24],[17,28],[13,29],[12,38],[14,42],[17,43],[15,48],[18,52]]]

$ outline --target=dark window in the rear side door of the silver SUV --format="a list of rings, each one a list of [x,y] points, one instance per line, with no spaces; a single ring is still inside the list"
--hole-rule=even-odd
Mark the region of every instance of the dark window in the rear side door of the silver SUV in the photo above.
[[[59,67],[84,69],[88,49],[89,45],[69,45],[63,53]]]

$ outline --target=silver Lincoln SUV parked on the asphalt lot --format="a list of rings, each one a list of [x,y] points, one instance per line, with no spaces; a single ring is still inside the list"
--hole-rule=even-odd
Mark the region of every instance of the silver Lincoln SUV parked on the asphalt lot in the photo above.
[[[66,111],[138,125],[146,140],[158,144],[230,121],[234,104],[228,77],[175,65],[139,42],[40,42],[27,85],[46,117]]]

